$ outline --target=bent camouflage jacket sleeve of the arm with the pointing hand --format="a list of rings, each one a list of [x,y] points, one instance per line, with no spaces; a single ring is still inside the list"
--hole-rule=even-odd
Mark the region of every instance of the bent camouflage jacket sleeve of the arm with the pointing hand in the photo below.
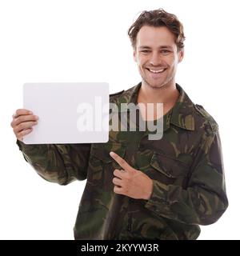
[[[186,224],[209,225],[228,206],[218,131],[205,136],[199,147],[186,187],[154,180],[147,209],[154,214]]]

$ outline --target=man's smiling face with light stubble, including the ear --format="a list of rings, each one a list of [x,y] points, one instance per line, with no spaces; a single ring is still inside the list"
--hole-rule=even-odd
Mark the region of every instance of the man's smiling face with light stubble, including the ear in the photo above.
[[[174,34],[166,26],[142,26],[139,30],[134,60],[147,86],[157,89],[175,84],[178,62],[182,58],[183,50],[178,51]]]

